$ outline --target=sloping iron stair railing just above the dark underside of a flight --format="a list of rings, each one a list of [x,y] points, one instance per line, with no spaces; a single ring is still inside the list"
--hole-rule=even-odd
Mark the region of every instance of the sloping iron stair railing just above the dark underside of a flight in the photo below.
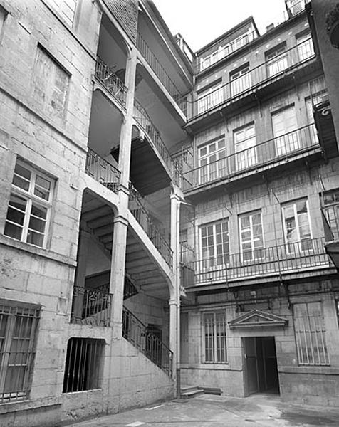
[[[135,111],[134,117],[135,120],[139,123],[143,130],[147,133],[150,141],[155,145],[157,152],[160,154],[162,160],[165,162],[167,169],[173,174],[173,162],[170,152],[168,152],[165,143],[162,141],[162,137],[160,135],[157,127],[153,125],[152,120],[150,120],[150,116],[147,114],[147,111],[140,104],[139,101],[135,100],[134,102]]]

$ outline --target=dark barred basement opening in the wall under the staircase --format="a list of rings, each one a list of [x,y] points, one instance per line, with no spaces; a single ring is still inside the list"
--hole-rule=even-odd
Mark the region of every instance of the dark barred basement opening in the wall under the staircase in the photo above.
[[[103,339],[70,338],[67,345],[63,393],[93,390],[100,387],[100,362]]]

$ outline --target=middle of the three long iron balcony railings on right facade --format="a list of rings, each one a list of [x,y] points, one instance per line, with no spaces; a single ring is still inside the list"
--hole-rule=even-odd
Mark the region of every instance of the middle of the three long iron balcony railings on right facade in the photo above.
[[[184,173],[183,189],[189,190],[213,181],[228,179],[231,176],[257,169],[265,164],[288,159],[312,147],[319,147],[315,125],[313,124],[269,139],[261,144],[256,145],[255,142],[255,139],[253,139],[251,148]]]

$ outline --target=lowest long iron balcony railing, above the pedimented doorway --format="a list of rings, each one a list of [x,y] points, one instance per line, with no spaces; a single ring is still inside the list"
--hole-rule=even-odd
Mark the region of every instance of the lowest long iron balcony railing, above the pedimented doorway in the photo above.
[[[194,283],[231,282],[236,280],[301,273],[319,267],[330,267],[324,238],[305,239],[244,253],[224,254],[194,261]],[[187,283],[192,285],[192,283]]]

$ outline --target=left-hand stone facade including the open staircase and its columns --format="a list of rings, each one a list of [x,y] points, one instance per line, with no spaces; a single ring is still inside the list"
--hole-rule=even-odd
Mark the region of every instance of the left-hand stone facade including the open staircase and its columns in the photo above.
[[[0,19],[1,426],[174,396],[192,65],[147,1],[4,0]]]

